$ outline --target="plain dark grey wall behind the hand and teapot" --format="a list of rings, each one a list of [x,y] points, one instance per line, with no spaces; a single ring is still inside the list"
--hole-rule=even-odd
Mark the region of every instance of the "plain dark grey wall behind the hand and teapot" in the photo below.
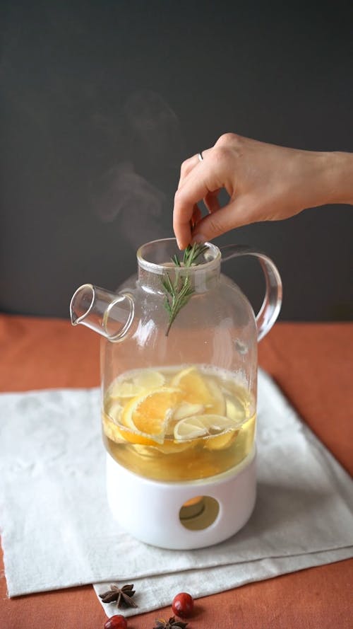
[[[140,243],[172,236],[181,161],[223,132],[352,151],[352,3],[286,5],[1,4],[0,311],[67,316],[79,284],[131,275]],[[309,209],[216,243],[275,260],[282,319],[345,319],[352,217]],[[256,306],[257,268],[225,272]]]

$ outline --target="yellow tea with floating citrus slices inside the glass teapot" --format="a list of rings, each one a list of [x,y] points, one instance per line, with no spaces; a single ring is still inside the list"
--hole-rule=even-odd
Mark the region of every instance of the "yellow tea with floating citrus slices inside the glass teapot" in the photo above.
[[[107,451],[145,478],[208,478],[236,466],[253,446],[254,401],[230,371],[128,371],[109,387],[103,406]]]

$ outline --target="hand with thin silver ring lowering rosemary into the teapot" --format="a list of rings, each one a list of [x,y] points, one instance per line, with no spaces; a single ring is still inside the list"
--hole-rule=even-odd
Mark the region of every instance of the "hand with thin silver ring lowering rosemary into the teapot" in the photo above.
[[[179,248],[257,221],[287,219],[306,207],[352,202],[352,184],[340,190],[337,181],[340,169],[346,173],[347,168],[352,181],[352,166],[351,154],[289,149],[224,134],[203,151],[203,161],[194,155],[181,165],[173,216]],[[224,207],[217,197],[222,188],[229,195]],[[197,205],[202,199],[206,217]]]

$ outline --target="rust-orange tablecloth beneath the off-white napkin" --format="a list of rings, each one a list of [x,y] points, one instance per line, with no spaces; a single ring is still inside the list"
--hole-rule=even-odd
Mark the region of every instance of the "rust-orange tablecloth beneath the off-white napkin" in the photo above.
[[[350,323],[277,323],[259,347],[261,366],[351,474],[352,357]],[[1,391],[98,383],[97,335],[68,321],[0,315]],[[352,629],[352,592],[353,560],[345,560],[198,599],[189,627]],[[149,629],[170,615],[153,611],[128,626]],[[1,629],[100,629],[105,620],[91,586],[9,600],[1,574]]]

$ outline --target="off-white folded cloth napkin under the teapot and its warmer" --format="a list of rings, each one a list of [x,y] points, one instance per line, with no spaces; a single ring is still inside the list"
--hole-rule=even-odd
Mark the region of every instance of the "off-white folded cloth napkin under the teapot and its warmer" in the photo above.
[[[134,583],[140,613],[352,557],[349,475],[269,376],[258,378],[258,497],[217,546],[174,551],[121,531],[105,496],[98,389],[0,396],[0,522],[9,596]],[[124,508],[124,505],[122,505]],[[104,583],[105,582],[105,583]],[[104,605],[107,615],[116,613]]]

